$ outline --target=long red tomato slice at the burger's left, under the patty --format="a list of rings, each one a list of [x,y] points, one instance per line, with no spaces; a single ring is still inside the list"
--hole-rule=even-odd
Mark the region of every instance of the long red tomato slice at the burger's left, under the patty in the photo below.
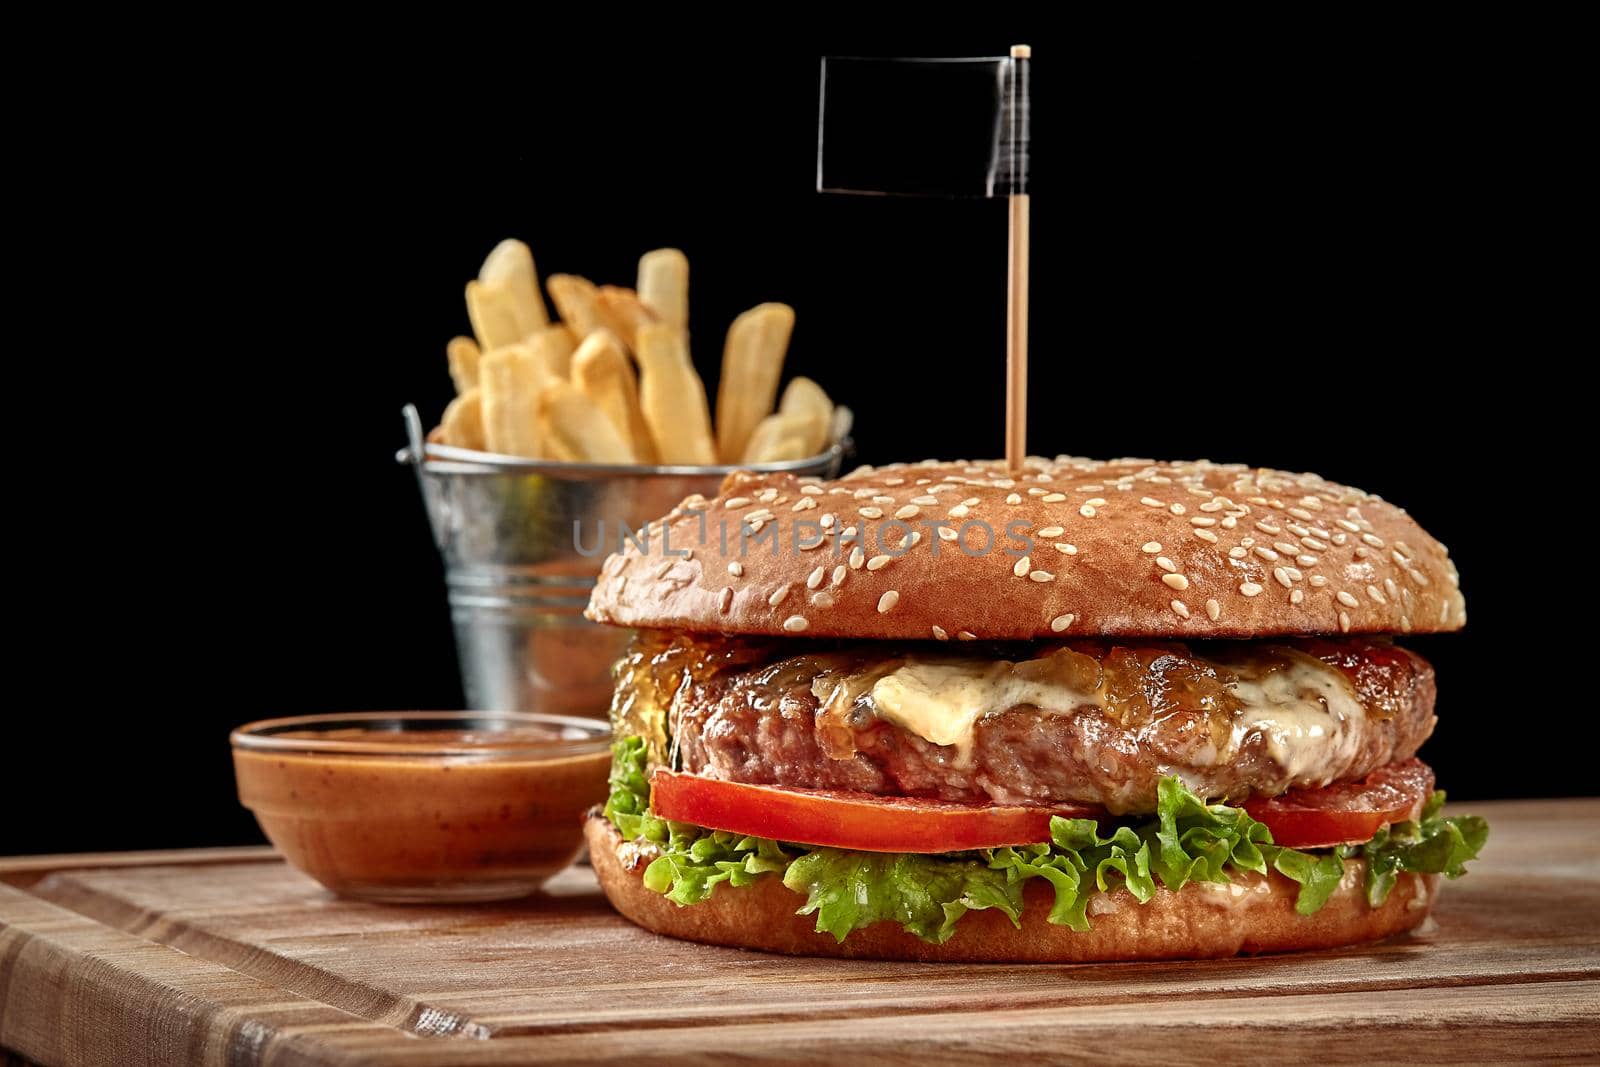
[[[650,809],[662,819],[712,830],[862,853],[960,853],[1037,845],[1050,840],[1051,816],[1094,819],[1106,814],[1101,808],[1074,805],[995,808],[917,797],[747,785],[674,771],[656,771],[650,779]]]

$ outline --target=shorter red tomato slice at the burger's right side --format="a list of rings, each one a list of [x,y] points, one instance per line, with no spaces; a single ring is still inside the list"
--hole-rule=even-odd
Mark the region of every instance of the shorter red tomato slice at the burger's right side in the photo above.
[[[1390,822],[1413,819],[1434,792],[1434,771],[1421,760],[1390,763],[1360,782],[1291,789],[1282,797],[1245,801],[1245,811],[1288,848],[1370,841]]]

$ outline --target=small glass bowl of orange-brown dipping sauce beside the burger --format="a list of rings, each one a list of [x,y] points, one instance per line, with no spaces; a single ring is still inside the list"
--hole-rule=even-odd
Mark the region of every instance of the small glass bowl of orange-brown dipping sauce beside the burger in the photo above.
[[[498,712],[302,715],[234,731],[238,798],[341,896],[504,901],[582,845],[606,795],[598,720]]]

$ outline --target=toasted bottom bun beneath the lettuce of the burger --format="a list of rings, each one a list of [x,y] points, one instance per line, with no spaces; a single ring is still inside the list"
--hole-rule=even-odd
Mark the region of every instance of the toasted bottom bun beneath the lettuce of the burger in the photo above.
[[[1096,960],[1184,960],[1256,952],[1298,952],[1378,941],[1418,926],[1438,894],[1438,875],[1398,877],[1389,899],[1368,907],[1365,870],[1349,862],[1344,881],[1315,915],[1296,915],[1299,886],[1270,873],[1237,875],[1229,885],[1157,888],[1147,904],[1115,889],[1090,904],[1085,933],[1046,921],[1053,891],[1043,880],[1024,888],[1022,926],[1002,912],[968,912],[942,945],[894,923],[874,923],[845,941],[819,934],[814,918],[797,915],[805,902],[778,878],[762,875],[742,888],[718,886],[710,899],[680,907],[645,888],[648,859],[622,859],[622,838],[610,821],[590,816],[589,856],[611,905],[645,929],[669,937],[789,955],[859,960],[949,960],[974,963],[1088,963]],[[632,853],[632,849],[626,849]]]

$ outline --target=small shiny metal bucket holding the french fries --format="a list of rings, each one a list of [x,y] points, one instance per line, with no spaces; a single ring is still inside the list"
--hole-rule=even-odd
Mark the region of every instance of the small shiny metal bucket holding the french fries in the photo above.
[[[605,717],[611,664],[629,632],[582,616],[618,523],[638,530],[685,496],[715,496],[736,467],[645,467],[514,459],[422,437],[406,405],[410,445],[434,541],[445,557],[450,616],[467,707]],[[750,470],[832,478],[848,442]],[[581,537],[574,534],[574,522]],[[603,523],[603,526],[602,526]],[[597,534],[605,531],[605,550]],[[579,552],[579,541],[584,550]]]

